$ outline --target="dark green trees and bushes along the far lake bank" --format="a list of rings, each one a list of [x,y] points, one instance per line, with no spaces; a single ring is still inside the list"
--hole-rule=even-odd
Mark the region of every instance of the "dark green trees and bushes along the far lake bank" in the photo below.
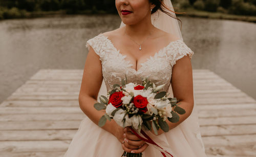
[[[194,8],[209,12],[256,15],[256,0],[172,0],[172,3],[179,10]],[[114,0],[0,0],[0,19],[23,17],[27,12],[58,10],[65,10],[66,13],[117,13]]]

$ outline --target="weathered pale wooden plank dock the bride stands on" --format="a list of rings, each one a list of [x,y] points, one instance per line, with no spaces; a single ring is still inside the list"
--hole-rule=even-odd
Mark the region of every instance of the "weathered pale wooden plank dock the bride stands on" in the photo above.
[[[85,117],[82,72],[40,70],[0,104],[0,156],[63,156]],[[256,156],[256,101],[209,70],[193,79],[208,156]]]

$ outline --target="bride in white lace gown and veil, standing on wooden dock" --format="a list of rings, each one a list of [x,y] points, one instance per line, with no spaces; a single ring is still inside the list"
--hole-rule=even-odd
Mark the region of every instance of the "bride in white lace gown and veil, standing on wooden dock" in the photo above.
[[[122,19],[120,28],[100,33],[87,41],[89,53],[84,65],[79,106],[84,118],[66,157],[120,156],[123,151],[144,157],[163,156],[149,143],[140,140],[114,120],[103,127],[98,121],[104,112],[93,104],[106,95],[113,84],[140,83],[141,77],[165,84],[164,90],[180,99],[186,114],[170,123],[169,131],[159,129],[148,135],[173,156],[206,156],[194,103],[191,57],[194,54],[183,42],[170,0],[116,0]],[[168,9],[167,9],[168,8]],[[168,155],[168,154],[166,154]]]

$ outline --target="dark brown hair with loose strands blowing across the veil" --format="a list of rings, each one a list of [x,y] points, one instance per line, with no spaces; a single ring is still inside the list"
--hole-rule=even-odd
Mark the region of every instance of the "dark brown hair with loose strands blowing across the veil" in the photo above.
[[[170,8],[168,8],[167,6],[165,6],[163,4],[163,0],[148,0],[148,1],[155,5],[155,7],[153,8],[151,14],[154,14],[159,9],[161,12],[167,14],[168,16],[173,17],[173,18],[179,20],[181,22],[181,28],[182,28],[182,21],[179,18],[174,17],[171,14],[169,14],[166,10],[169,10],[169,11],[175,13],[175,14],[184,14],[185,12],[179,13],[179,12],[175,12],[175,11],[170,10]]]

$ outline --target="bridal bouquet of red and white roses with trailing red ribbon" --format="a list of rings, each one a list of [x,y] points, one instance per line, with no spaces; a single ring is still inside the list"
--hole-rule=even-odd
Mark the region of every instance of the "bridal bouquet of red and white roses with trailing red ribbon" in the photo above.
[[[176,98],[167,98],[168,93],[161,91],[164,84],[156,86],[147,78],[143,78],[141,84],[127,83],[126,76],[121,83],[122,85],[113,85],[113,89],[108,92],[108,98],[100,96],[100,102],[94,104],[97,110],[105,109],[105,114],[100,118],[98,125],[102,127],[106,120],[114,119],[118,125],[130,127],[143,141],[158,146],[141,128],[146,130],[153,128],[155,134],[158,134],[160,128],[167,132],[169,127],[166,119],[176,123],[179,121],[178,114],[185,114],[185,110],[178,106],[179,101]],[[135,130],[141,132],[147,139],[142,138]],[[164,155],[164,152],[162,154]],[[142,156],[142,153],[124,151],[122,156]]]

